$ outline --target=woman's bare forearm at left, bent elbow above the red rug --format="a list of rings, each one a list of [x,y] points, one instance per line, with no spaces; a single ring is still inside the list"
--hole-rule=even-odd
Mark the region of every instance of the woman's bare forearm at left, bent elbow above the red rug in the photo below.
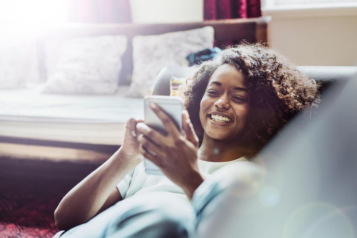
[[[119,149],[66,194],[55,211],[57,228],[67,230],[95,216],[117,183],[134,168],[124,157]]]

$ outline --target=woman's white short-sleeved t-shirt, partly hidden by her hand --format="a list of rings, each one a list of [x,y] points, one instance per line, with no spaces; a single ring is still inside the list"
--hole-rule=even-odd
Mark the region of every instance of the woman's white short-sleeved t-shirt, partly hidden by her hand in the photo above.
[[[247,161],[245,157],[235,159],[228,162],[209,162],[198,160],[198,168],[201,173],[209,176],[217,169],[237,161]],[[178,196],[189,204],[188,198],[183,190],[176,184],[171,182],[166,176],[152,175],[145,172],[144,161],[138,164],[129,174],[127,174],[120,183],[117,184],[117,188],[123,199],[137,196],[145,196],[147,193],[152,192],[170,192],[173,196]],[[145,197],[144,197],[145,198]]]

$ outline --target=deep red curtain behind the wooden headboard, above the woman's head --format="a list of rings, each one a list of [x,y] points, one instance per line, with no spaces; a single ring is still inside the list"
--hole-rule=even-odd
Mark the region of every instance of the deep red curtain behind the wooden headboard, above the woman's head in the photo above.
[[[261,16],[260,0],[203,0],[205,20]]]

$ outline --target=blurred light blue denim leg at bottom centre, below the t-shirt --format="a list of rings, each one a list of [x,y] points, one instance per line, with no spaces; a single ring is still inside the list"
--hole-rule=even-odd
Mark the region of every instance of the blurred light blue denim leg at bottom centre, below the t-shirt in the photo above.
[[[187,203],[167,192],[124,199],[61,238],[194,237],[195,214],[182,207]]]

